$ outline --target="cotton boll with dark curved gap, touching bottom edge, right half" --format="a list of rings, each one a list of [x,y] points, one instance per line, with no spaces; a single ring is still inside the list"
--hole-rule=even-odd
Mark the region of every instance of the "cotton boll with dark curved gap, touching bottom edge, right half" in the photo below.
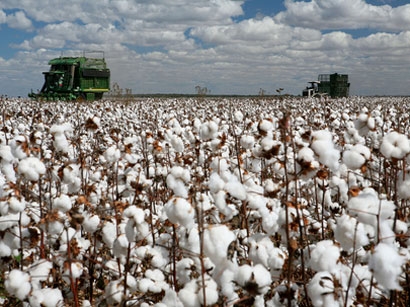
[[[329,272],[318,272],[308,284],[308,295],[314,307],[339,307],[335,300],[335,283]]]

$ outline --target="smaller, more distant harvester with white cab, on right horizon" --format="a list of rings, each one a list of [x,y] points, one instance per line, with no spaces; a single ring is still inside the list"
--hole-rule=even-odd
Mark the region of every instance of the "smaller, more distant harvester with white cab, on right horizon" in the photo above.
[[[309,82],[310,86],[303,90],[305,97],[327,95],[332,98],[349,96],[349,76],[341,74],[319,75],[317,81]]]

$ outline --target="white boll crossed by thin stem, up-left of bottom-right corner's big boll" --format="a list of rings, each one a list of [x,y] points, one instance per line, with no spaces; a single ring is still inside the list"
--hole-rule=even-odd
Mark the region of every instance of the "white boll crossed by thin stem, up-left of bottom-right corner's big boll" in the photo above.
[[[353,248],[357,250],[369,244],[369,238],[363,224],[357,223],[355,218],[346,214],[336,218],[335,239],[345,251],[350,251]]]

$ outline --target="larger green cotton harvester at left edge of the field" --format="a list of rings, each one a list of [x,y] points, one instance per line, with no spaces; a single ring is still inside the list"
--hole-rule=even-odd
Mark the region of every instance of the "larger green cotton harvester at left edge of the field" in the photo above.
[[[99,100],[110,90],[110,70],[104,59],[59,57],[48,62],[50,70],[43,72],[44,85],[38,93],[29,93],[35,100]]]

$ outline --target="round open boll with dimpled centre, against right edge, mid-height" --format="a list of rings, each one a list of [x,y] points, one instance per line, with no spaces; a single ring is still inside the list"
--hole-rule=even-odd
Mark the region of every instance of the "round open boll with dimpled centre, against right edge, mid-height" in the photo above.
[[[410,142],[406,135],[396,131],[383,137],[380,152],[387,159],[403,159],[410,152]]]

